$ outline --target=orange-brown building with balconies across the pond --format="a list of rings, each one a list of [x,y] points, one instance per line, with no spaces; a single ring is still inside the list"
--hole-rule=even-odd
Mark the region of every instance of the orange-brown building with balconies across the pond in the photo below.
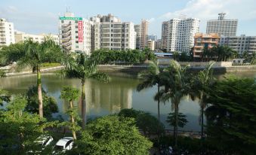
[[[194,38],[195,38],[195,44],[193,47],[193,57],[201,58],[203,49],[204,48],[211,49],[212,47],[217,46],[221,37],[217,35],[217,33],[210,33],[210,34],[196,33]]]

